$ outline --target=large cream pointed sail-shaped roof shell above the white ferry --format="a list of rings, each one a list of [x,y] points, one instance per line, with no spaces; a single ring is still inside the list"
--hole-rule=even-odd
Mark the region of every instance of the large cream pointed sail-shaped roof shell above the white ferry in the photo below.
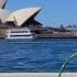
[[[25,21],[28,21],[32,15],[34,15],[41,8],[26,8],[22,10],[14,11],[11,13],[7,21],[16,21],[18,25],[21,26]]]

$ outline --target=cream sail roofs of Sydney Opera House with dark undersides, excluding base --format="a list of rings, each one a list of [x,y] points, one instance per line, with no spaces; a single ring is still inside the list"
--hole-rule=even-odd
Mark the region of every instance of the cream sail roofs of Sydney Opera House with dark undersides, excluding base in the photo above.
[[[0,0],[0,21],[2,23],[13,23],[16,26],[41,24],[34,18],[41,11],[41,8],[26,8],[10,12],[4,10],[8,0]]]

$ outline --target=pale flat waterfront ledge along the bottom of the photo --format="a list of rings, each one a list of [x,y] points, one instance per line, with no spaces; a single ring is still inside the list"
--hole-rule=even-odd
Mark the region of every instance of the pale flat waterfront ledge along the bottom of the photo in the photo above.
[[[58,77],[57,73],[2,73],[0,77]],[[77,73],[63,73],[62,77],[77,77]]]

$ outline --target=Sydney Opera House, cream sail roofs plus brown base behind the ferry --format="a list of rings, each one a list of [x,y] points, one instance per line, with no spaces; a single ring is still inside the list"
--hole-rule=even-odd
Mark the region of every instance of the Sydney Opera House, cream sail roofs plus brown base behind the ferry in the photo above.
[[[4,7],[8,0],[0,0],[0,36],[4,37],[8,29],[28,28],[32,32],[37,32],[42,23],[34,20],[41,8],[26,8],[10,12]]]

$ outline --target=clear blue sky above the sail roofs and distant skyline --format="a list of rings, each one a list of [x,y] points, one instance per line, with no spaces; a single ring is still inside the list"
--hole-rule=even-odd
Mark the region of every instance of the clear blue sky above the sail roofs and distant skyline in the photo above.
[[[35,19],[45,26],[77,25],[77,0],[8,0],[6,9],[15,11],[30,7],[42,7]]]

